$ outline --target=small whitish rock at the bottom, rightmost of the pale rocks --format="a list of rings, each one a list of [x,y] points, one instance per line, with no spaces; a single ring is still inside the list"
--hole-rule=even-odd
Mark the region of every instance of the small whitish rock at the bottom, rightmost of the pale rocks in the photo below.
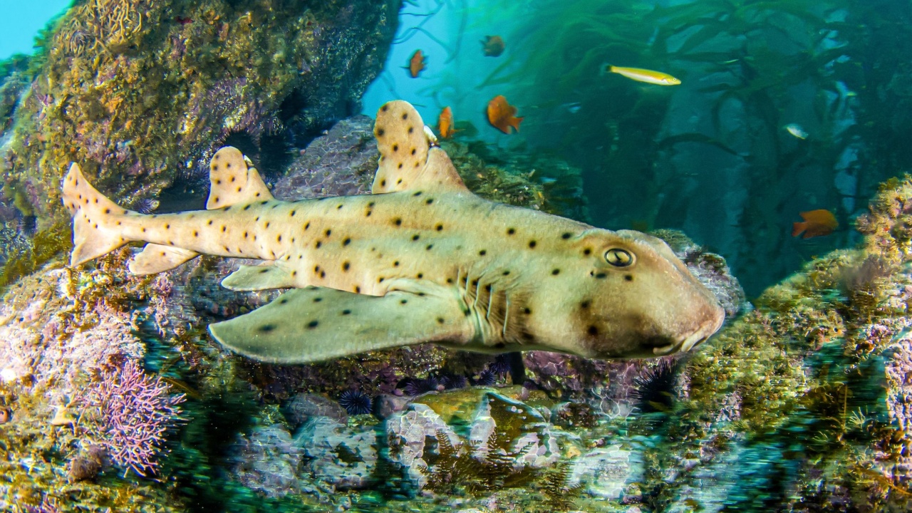
[[[583,487],[593,496],[618,500],[627,487],[643,478],[643,466],[636,453],[621,445],[596,447],[575,458],[567,487]]]

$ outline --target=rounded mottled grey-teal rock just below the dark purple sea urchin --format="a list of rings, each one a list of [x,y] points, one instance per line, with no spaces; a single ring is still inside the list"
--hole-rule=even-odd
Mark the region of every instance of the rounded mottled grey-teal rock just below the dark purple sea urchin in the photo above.
[[[353,429],[313,417],[295,434],[295,445],[310,458],[303,471],[339,490],[368,487],[377,466],[377,433],[369,426]]]

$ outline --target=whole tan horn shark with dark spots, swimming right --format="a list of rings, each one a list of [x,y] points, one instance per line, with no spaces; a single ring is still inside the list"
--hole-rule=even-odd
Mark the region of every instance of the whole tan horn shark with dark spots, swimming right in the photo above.
[[[259,361],[304,363],[436,342],[470,351],[625,359],[689,351],[719,301],[654,236],[609,231],[472,194],[405,101],[383,105],[372,193],[276,200],[241,152],[212,157],[207,210],[141,215],[63,181],[78,266],[131,241],[145,275],[202,253],[263,260],[222,281],[292,288],[209,330]]]

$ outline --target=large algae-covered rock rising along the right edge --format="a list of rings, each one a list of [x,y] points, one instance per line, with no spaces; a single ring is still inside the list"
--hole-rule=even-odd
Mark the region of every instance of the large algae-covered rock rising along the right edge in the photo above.
[[[910,197],[908,176],[885,183],[862,249],[809,262],[682,362],[661,429],[635,424],[658,436],[647,475],[666,476],[645,491],[681,511],[908,510]]]

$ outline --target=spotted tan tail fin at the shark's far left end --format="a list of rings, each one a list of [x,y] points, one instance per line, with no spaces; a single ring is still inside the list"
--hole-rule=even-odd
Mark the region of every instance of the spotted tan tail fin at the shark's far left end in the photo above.
[[[78,266],[93,258],[107,255],[123,246],[127,239],[121,236],[112,218],[129,211],[99,193],[73,162],[63,179],[63,204],[73,215],[73,253],[71,266]]]

